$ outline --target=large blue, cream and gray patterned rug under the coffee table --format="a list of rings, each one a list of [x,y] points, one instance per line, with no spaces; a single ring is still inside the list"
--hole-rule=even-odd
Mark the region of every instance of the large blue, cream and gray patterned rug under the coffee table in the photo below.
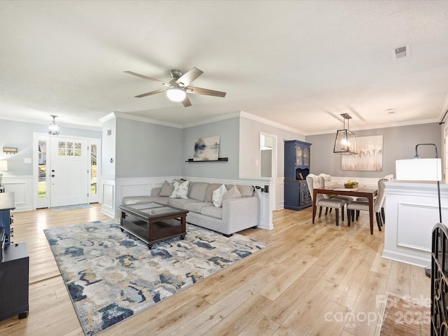
[[[118,220],[44,230],[86,335],[94,335],[268,244],[187,225],[151,250]]]

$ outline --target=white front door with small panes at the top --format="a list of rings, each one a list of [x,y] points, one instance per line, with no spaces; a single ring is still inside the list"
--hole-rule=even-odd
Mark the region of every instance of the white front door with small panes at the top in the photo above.
[[[88,203],[87,139],[51,137],[50,207]]]

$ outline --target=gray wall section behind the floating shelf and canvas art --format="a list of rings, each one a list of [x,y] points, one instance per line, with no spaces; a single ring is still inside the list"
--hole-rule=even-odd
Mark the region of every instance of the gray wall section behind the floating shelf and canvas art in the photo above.
[[[223,162],[185,162],[195,153],[199,138],[220,137],[219,157],[229,158]],[[183,129],[182,175],[210,179],[238,179],[239,172],[239,117]]]

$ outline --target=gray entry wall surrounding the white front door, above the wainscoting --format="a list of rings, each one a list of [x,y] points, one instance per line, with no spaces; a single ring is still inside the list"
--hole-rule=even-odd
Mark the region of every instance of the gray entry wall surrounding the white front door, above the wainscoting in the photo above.
[[[50,124],[48,116],[48,124]],[[33,158],[33,134],[48,134],[48,125],[23,123],[18,121],[0,120],[0,160],[8,160],[8,172],[4,176],[31,176],[33,165],[24,163],[25,158]],[[61,137],[86,137],[101,139],[102,132],[82,130],[71,127],[61,127]],[[15,155],[4,154],[3,147],[16,147]],[[32,161],[31,161],[32,162]]]

